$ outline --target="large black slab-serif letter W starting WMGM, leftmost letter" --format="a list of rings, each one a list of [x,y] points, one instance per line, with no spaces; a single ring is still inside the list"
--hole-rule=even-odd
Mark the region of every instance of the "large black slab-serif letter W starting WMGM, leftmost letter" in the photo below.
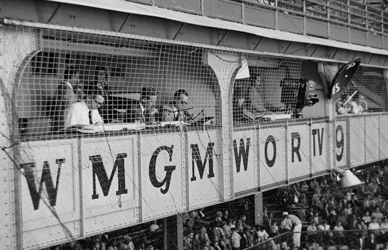
[[[55,188],[54,188],[54,183],[52,182],[49,162],[45,161],[43,163],[42,177],[40,178],[38,190],[36,190],[35,175],[34,175],[34,170],[33,170],[33,168],[35,167],[35,163],[32,162],[32,163],[20,164],[20,168],[23,168],[25,170],[24,176],[26,177],[26,181],[27,181],[28,189],[30,191],[34,210],[39,209],[39,201],[40,201],[40,197],[42,194],[43,183],[45,183],[45,186],[46,186],[46,191],[47,191],[47,195],[49,198],[50,206],[52,206],[52,207],[55,206],[55,204],[57,202],[59,176],[61,174],[61,166],[63,163],[65,163],[65,159],[56,159],[55,160],[55,164],[58,165],[57,180],[55,183]]]

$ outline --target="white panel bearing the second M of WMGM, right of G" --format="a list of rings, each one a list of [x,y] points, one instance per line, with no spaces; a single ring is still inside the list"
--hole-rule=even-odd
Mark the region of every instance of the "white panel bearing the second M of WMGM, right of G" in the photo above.
[[[222,144],[216,131],[188,132],[190,210],[209,206],[223,197]]]

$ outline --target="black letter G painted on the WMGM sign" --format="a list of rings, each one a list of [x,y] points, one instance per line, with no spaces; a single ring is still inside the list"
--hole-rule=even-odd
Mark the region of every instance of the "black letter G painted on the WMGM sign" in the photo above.
[[[171,175],[173,171],[175,170],[176,166],[164,166],[164,171],[166,171],[166,175],[164,176],[164,179],[159,182],[158,178],[156,177],[156,158],[158,158],[158,155],[161,151],[166,150],[169,155],[169,161],[172,161],[173,158],[173,149],[174,145],[171,145],[171,147],[168,146],[160,146],[157,148],[154,153],[151,156],[151,160],[149,162],[149,180],[151,181],[151,184],[154,187],[161,187],[162,185],[166,184],[165,188],[161,188],[162,194],[166,194],[168,192],[168,189],[170,188],[170,183],[171,183]]]

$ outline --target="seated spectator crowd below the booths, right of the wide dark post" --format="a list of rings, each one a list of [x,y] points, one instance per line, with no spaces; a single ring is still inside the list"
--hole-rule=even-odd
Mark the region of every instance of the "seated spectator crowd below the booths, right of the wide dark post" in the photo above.
[[[271,250],[388,249],[388,161],[354,169],[354,174],[364,184],[346,193],[329,175],[278,188],[277,197],[272,197],[277,200],[275,210],[263,207],[259,225],[255,225],[249,199],[242,199],[234,213],[191,211],[184,219],[183,249],[239,250],[258,244],[258,249]],[[282,236],[288,232],[291,237]]]

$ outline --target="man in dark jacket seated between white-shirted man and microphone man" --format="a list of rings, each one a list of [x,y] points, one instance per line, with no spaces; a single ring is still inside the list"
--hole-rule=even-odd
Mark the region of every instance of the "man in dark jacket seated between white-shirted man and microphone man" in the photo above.
[[[143,87],[140,100],[131,103],[131,109],[127,110],[127,122],[145,121],[147,124],[156,122],[155,115],[158,110],[155,108],[158,92],[155,88]]]

